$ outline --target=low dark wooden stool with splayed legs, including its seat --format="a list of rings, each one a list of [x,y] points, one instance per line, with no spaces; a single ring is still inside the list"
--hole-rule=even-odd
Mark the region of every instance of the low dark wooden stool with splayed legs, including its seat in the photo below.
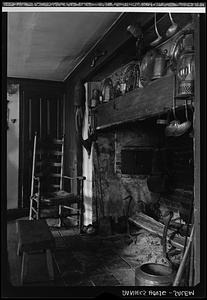
[[[52,250],[55,240],[45,220],[19,220],[17,221],[19,243],[17,255],[22,255],[21,284],[23,284],[28,267],[28,254],[34,251],[46,252],[49,279],[54,280]]]

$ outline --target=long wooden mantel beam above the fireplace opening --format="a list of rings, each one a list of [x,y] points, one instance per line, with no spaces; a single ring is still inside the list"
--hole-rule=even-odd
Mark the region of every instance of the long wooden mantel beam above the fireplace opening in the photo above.
[[[173,76],[151,81],[96,108],[97,130],[166,113],[173,103]],[[178,102],[178,105],[182,101]]]

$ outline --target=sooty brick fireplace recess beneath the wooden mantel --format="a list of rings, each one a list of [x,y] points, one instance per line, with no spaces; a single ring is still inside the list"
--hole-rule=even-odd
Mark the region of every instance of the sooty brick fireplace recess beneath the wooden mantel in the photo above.
[[[136,217],[140,212],[163,222],[172,211],[182,222],[190,219],[193,202],[193,141],[164,136],[156,120],[149,119],[99,132],[98,154],[93,149],[93,221],[101,217],[102,197],[105,216],[116,223],[120,217]],[[170,173],[170,189],[156,193],[149,189],[154,151],[164,149]],[[163,162],[160,163],[163,171]],[[129,196],[132,197],[129,207]]]

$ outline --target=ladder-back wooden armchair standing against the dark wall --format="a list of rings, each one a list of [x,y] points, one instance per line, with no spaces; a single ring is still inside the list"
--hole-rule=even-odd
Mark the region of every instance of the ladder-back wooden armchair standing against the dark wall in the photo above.
[[[83,176],[75,178],[63,175],[64,137],[61,140],[39,141],[34,137],[32,182],[29,219],[63,218],[83,225]],[[66,184],[65,181],[68,181]],[[71,192],[72,181],[77,181],[78,192]],[[68,191],[69,190],[69,191]]]

